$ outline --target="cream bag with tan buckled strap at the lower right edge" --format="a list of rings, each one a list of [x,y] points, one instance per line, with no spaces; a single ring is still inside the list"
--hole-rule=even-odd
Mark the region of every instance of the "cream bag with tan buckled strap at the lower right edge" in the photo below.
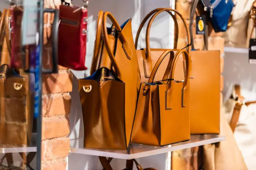
[[[236,143],[241,150],[249,170],[256,168],[256,101],[247,101],[241,94],[241,86],[235,85],[233,94],[225,104],[225,116],[234,133]]]

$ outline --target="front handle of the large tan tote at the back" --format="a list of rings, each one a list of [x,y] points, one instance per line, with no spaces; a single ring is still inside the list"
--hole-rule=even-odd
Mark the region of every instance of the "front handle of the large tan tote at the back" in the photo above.
[[[177,10],[174,10],[174,9],[168,7],[168,8],[163,8],[162,10],[159,10],[158,12],[156,12],[152,16],[152,18],[150,19],[150,21],[148,23],[148,27],[147,27],[147,31],[146,31],[146,56],[149,59],[151,59],[151,50],[150,50],[150,41],[149,41],[149,33],[150,33],[151,25],[152,25],[154,19],[156,18],[156,16],[159,15],[160,13],[164,12],[164,11],[173,11],[174,13],[177,13],[177,15],[179,15],[179,17],[182,19],[182,22],[184,23],[184,26],[185,26],[186,32],[187,32],[188,51],[189,51],[189,54],[190,54],[190,48],[191,48],[189,46],[189,44],[190,44],[190,34],[189,34],[189,30],[188,30],[186,21],[184,20],[182,15]]]

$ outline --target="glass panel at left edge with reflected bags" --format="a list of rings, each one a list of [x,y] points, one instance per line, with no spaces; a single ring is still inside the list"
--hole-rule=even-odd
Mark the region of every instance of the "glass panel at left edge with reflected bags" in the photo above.
[[[36,170],[41,162],[36,161],[34,109],[40,10],[33,0],[1,0],[0,11],[0,169]]]

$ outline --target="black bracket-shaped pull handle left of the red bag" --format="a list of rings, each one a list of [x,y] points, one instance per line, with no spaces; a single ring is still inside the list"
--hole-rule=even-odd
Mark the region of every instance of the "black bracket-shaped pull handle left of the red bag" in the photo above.
[[[58,73],[58,37],[59,37],[59,10],[58,9],[44,9],[44,13],[54,13],[54,21],[52,24],[52,69],[42,67],[44,74]]]

